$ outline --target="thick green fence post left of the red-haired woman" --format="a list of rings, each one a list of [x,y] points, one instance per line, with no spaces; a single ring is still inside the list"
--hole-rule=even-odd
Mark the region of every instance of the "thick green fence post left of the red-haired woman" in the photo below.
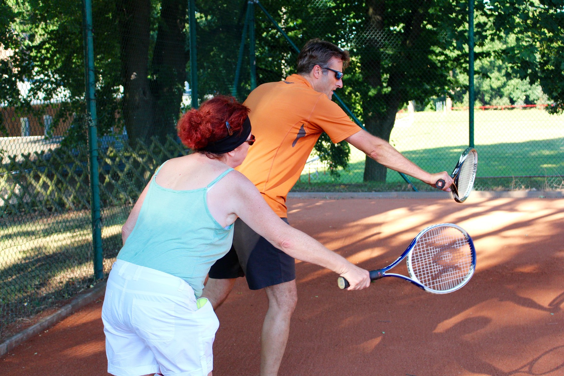
[[[92,3],[83,0],[84,63],[86,80],[86,118],[90,164],[90,209],[92,217],[92,249],[94,250],[94,277],[104,276],[102,255],[102,228],[100,221],[100,185],[98,169],[98,135],[96,133],[96,94],[94,77],[94,41],[92,38]]]

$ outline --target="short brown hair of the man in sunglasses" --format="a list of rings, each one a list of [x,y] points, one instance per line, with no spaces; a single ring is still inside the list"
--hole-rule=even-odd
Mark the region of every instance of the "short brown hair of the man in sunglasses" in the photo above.
[[[349,66],[349,51],[341,50],[333,43],[322,41],[319,38],[307,41],[302,50],[299,51],[298,74],[309,75],[315,65],[325,68],[333,57],[343,60],[343,69]]]

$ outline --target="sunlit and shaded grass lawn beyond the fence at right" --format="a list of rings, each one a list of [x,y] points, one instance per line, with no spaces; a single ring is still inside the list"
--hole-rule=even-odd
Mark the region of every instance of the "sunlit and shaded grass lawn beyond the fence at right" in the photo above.
[[[468,116],[468,111],[403,114],[396,120],[390,143],[425,170],[452,172],[469,143]],[[564,115],[549,115],[536,109],[476,111],[474,144],[478,151],[478,189],[480,185],[488,189],[499,184],[506,185],[506,189],[519,189],[521,185],[515,186],[515,178],[522,176],[557,176],[539,183],[544,181],[548,189],[562,188],[559,177],[564,176]],[[338,180],[318,161],[309,163],[294,190],[328,183],[362,183],[364,159],[362,152],[351,147],[349,168],[341,171]],[[402,182],[398,173],[389,170],[386,184],[380,186],[390,189]],[[424,188],[421,182],[414,183]]]

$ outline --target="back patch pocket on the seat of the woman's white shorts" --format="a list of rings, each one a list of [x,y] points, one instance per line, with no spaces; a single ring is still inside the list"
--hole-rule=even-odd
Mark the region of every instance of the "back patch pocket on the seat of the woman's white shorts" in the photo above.
[[[174,338],[174,303],[133,299],[131,323],[136,333],[151,342]]]

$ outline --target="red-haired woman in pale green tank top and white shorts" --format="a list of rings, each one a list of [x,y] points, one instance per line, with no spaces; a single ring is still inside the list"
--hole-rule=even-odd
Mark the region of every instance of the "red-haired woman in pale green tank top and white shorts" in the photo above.
[[[345,277],[349,290],[369,286],[366,270],[281,220],[233,170],[260,142],[248,111],[215,97],[179,120],[193,153],[161,165],[122,228],[102,309],[108,373],[211,375],[219,323],[198,298],[210,266],[231,247],[237,217],[288,255]]]

